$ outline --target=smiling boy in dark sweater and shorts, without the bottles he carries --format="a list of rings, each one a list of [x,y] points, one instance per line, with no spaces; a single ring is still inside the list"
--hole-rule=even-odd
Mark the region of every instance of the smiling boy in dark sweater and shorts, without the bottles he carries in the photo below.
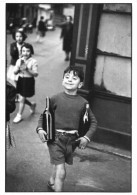
[[[63,191],[66,177],[65,163],[73,164],[72,153],[79,141],[79,148],[85,149],[96,130],[97,121],[90,108],[88,108],[88,118],[90,122],[89,130],[83,137],[79,137],[81,114],[88,103],[83,97],[77,94],[77,90],[83,85],[83,71],[75,66],[68,67],[64,71],[62,85],[64,92],[51,97],[51,107],[55,114],[55,141],[47,142],[50,162],[53,164],[52,174],[48,182],[48,187],[55,192]],[[37,133],[42,142],[45,142],[47,135],[42,129],[42,115],[40,116]]]

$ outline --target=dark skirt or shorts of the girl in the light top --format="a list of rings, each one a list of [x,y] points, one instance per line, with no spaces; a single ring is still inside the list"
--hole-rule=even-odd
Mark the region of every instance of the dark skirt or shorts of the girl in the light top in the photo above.
[[[32,97],[35,94],[34,78],[19,77],[17,81],[17,93],[23,97]]]

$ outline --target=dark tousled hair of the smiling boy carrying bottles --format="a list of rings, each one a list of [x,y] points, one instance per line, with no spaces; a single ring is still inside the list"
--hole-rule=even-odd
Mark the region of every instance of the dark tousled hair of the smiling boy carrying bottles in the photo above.
[[[73,74],[78,76],[80,78],[80,82],[84,81],[84,72],[82,70],[82,68],[77,67],[77,66],[68,66],[65,70],[64,70],[64,75],[68,72],[70,73],[71,71],[73,71]]]

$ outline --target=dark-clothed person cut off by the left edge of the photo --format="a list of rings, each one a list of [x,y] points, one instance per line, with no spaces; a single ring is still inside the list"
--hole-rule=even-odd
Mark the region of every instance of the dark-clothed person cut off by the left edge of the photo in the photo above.
[[[16,108],[16,88],[6,81],[6,150],[15,147],[15,139],[10,129],[10,114]]]

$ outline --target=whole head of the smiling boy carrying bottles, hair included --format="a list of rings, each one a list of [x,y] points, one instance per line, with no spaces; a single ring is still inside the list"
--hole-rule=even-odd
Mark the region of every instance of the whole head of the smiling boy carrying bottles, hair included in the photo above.
[[[65,69],[63,74],[62,85],[64,89],[68,92],[77,92],[78,88],[81,88],[83,85],[84,73],[82,69],[70,66]]]

